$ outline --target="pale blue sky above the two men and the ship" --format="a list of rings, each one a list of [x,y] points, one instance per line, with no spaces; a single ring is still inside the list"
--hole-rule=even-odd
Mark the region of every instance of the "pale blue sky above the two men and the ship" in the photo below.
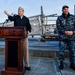
[[[40,7],[43,6],[44,14],[60,15],[63,5],[70,7],[70,13],[74,14],[75,0],[1,0],[0,2],[0,22],[4,22],[7,16],[3,13],[7,10],[10,14],[17,14],[18,7],[25,9],[27,17],[40,14]]]

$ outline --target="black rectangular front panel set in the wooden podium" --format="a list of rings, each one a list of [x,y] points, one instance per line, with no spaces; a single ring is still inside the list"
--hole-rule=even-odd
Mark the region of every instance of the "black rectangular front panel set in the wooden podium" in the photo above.
[[[18,41],[8,41],[8,67],[18,67]]]

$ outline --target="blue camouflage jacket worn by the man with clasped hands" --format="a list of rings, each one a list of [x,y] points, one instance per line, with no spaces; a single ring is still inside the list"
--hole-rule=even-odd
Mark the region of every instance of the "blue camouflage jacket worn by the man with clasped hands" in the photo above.
[[[64,14],[58,17],[56,22],[59,40],[75,40],[75,16],[68,14],[65,17]],[[65,34],[65,31],[73,31],[74,34],[72,36],[68,36]]]

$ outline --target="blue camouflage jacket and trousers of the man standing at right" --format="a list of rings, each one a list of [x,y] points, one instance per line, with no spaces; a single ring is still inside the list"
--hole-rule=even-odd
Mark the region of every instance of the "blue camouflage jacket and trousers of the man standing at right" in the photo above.
[[[64,14],[58,17],[57,19],[57,30],[59,34],[59,59],[64,60],[64,52],[66,48],[69,50],[69,56],[70,56],[70,62],[75,61],[75,16],[68,14],[67,17],[65,17]],[[73,31],[72,36],[68,36],[65,34],[65,31]]]

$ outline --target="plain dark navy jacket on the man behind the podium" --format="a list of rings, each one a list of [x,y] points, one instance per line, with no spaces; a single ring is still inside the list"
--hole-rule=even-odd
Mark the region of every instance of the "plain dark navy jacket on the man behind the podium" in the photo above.
[[[14,21],[14,26],[25,26],[26,30],[31,32],[31,25],[29,19],[25,16],[21,19],[19,15],[9,16],[10,21]]]

